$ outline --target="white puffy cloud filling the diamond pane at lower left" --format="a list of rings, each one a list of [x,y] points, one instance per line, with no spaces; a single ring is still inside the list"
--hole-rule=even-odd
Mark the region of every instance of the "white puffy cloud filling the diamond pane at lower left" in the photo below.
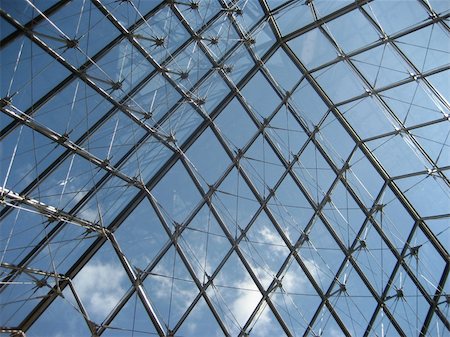
[[[103,319],[125,292],[125,271],[114,264],[86,265],[74,279],[74,287],[89,314]]]

